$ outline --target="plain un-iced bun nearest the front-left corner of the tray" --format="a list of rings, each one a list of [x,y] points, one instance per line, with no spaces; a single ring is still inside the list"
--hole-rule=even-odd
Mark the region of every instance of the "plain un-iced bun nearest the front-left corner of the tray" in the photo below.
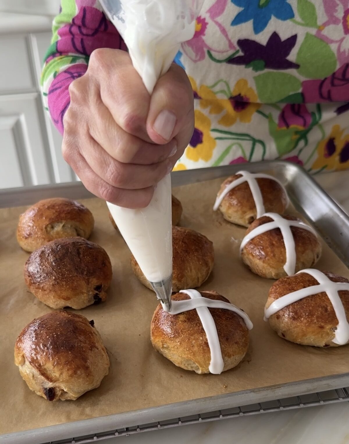
[[[75,400],[99,387],[109,358],[93,321],[54,311],[31,321],[15,345],[15,364],[29,389],[49,401]]]

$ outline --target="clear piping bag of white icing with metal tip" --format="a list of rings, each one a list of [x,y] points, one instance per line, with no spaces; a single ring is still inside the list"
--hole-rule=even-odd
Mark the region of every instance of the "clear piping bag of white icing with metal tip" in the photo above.
[[[180,44],[192,39],[203,0],[100,0],[129,49],[149,94]],[[175,92],[175,91],[174,91]],[[160,148],[161,149],[161,148]],[[115,223],[166,311],[172,294],[171,176],[156,186],[144,209],[107,202]]]

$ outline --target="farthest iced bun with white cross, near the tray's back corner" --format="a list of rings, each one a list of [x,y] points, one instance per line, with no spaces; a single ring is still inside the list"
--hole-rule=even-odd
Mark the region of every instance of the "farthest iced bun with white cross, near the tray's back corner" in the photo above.
[[[220,209],[229,222],[249,226],[267,211],[283,214],[288,203],[286,190],[278,179],[239,171],[222,183],[213,210]]]

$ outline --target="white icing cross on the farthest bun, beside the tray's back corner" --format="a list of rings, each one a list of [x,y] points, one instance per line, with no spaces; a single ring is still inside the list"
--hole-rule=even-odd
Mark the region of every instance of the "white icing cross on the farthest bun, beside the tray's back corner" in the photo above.
[[[250,187],[253,200],[255,201],[255,206],[256,206],[256,210],[257,210],[257,218],[260,218],[262,216],[262,214],[265,213],[265,208],[264,208],[263,196],[262,196],[261,190],[259,188],[259,185],[258,185],[258,182],[256,179],[271,179],[271,180],[274,180],[275,182],[277,182],[282,187],[282,189],[285,191],[285,194],[287,197],[287,204],[288,204],[289,200],[288,200],[286,190],[285,190],[284,186],[282,185],[282,183],[280,181],[278,181],[278,179],[276,179],[272,176],[269,176],[268,174],[259,174],[259,173],[253,174],[253,173],[249,173],[248,171],[239,171],[236,174],[241,174],[242,177],[239,177],[238,179],[229,183],[229,185],[227,185],[226,188],[224,188],[222,193],[219,196],[217,196],[215,205],[213,206],[214,211],[218,210],[218,208],[220,207],[220,204],[223,202],[223,199],[229,193],[229,191],[233,190],[236,186],[241,185],[243,182],[247,182],[248,186]]]

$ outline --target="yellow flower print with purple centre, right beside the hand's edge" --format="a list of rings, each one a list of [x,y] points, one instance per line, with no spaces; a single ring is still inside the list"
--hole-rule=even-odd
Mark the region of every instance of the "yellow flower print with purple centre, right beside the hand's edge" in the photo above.
[[[201,111],[195,110],[195,129],[189,146],[185,150],[188,159],[208,162],[216,147],[216,140],[210,134],[211,121]]]

